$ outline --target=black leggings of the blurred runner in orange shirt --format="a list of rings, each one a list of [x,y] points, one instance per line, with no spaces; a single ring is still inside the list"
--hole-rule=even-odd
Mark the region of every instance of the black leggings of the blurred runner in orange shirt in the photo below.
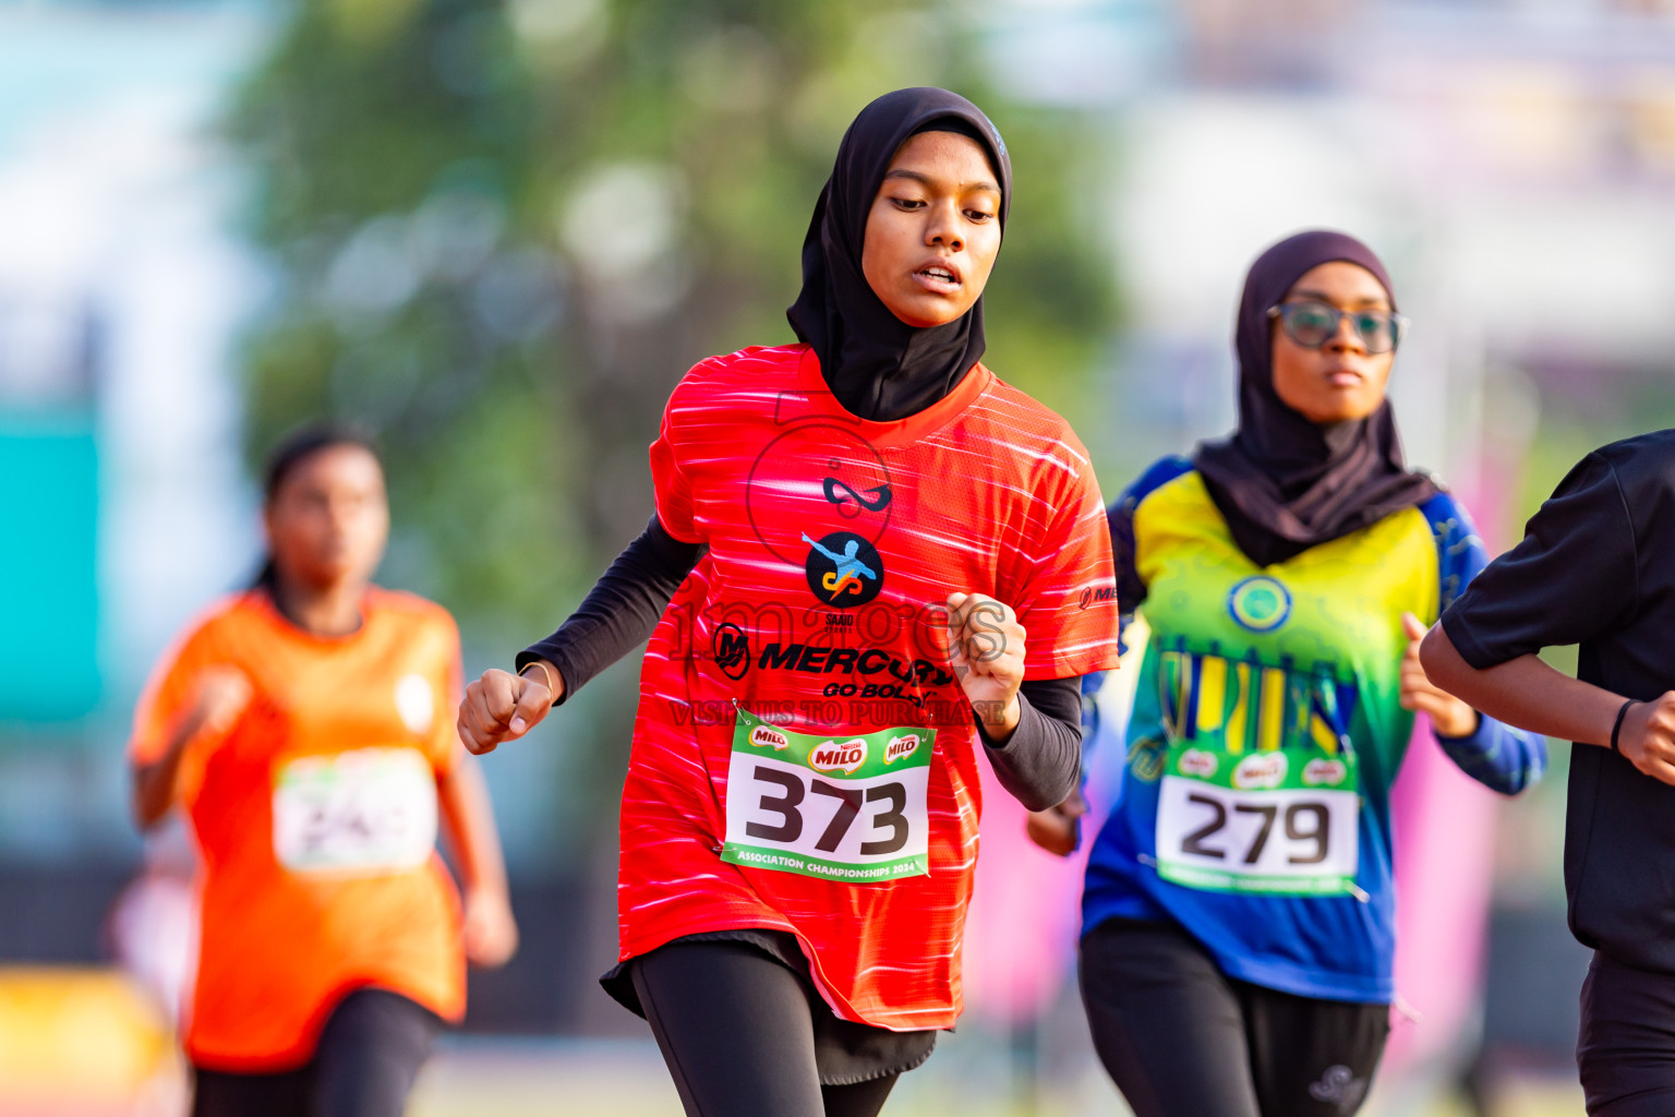
[[[400,1117],[441,1018],[399,993],[338,1001],[315,1057],[280,1073],[194,1067],[193,1117]]]

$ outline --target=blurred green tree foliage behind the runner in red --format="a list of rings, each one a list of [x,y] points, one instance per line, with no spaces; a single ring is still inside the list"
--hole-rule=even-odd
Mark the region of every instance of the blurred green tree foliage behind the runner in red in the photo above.
[[[302,0],[228,121],[275,273],[251,457],[310,417],[368,427],[382,579],[504,660],[652,514],[680,375],[791,340],[843,129],[923,84],[1013,152],[987,360],[1074,415],[1111,323],[1094,129],[993,97],[982,47],[966,7],[899,0]],[[605,722],[626,739],[626,710]]]

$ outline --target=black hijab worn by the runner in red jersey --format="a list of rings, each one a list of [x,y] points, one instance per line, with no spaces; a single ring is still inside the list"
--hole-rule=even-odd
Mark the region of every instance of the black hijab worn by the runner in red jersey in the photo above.
[[[891,422],[925,410],[983,355],[983,300],[946,325],[916,330],[889,313],[861,273],[866,216],[889,161],[920,132],[958,132],[983,146],[1000,178],[1000,224],[1012,204],[1012,161],[988,117],[946,89],[898,89],[854,119],[802,239],[802,291],[786,317],[814,348],[846,410]]]

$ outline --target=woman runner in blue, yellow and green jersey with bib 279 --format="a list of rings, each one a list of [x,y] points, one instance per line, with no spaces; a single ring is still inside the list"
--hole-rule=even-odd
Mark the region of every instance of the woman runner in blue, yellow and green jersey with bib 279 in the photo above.
[[[1139,1117],[1355,1112],[1395,995],[1389,795],[1414,713],[1499,792],[1546,762],[1419,665],[1486,556],[1402,462],[1402,327],[1358,241],[1270,248],[1240,308],[1238,432],[1111,507],[1119,605],[1149,636],[1087,869],[1082,993]],[[1037,816],[1037,841],[1069,844],[1074,811]]]

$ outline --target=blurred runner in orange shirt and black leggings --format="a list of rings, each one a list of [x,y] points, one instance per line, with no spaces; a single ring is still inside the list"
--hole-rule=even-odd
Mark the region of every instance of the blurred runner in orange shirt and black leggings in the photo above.
[[[198,841],[193,1114],[400,1114],[466,1008],[466,960],[518,946],[487,789],[454,730],[459,633],[370,583],[384,471],[310,429],[266,477],[270,559],[159,663],[134,718],[134,812]],[[436,852],[446,824],[461,909]]]

